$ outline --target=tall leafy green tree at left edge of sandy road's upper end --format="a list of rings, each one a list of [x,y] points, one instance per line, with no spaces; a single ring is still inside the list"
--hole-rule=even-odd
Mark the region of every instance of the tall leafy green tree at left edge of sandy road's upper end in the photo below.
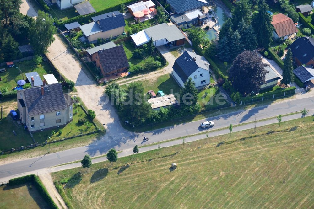
[[[48,47],[54,41],[53,35],[57,28],[53,25],[53,19],[47,13],[38,11],[36,21],[30,26],[30,45],[33,46],[35,54],[48,52]]]

